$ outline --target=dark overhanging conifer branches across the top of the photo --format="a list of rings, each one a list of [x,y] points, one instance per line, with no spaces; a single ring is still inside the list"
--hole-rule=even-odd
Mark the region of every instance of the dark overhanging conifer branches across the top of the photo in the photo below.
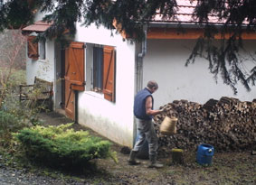
[[[103,25],[117,32],[113,21],[119,25],[119,32],[136,35],[136,40],[144,38],[143,25],[156,15],[173,19],[178,0],[0,0],[0,31],[8,27],[20,27],[33,22],[35,11],[51,13],[44,21],[53,21],[52,26],[41,36],[62,41],[67,29],[73,35],[76,22],[84,26],[90,23]],[[251,71],[242,69],[243,60],[239,52],[243,50],[242,32],[255,30],[255,0],[188,0],[196,2],[194,20],[204,28],[204,37],[198,39],[186,65],[197,57],[209,61],[210,72],[217,77],[221,74],[223,83],[237,92],[240,81],[247,90],[255,86],[256,66]],[[211,16],[218,18],[221,26],[210,22]],[[223,35],[220,44],[214,45],[214,35]],[[231,36],[225,38],[229,33]]]

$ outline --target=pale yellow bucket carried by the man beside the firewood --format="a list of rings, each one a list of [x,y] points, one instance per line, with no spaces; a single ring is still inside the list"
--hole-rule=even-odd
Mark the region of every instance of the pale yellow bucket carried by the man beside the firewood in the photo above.
[[[176,123],[178,119],[175,116],[166,116],[160,125],[160,133],[164,135],[176,134]]]

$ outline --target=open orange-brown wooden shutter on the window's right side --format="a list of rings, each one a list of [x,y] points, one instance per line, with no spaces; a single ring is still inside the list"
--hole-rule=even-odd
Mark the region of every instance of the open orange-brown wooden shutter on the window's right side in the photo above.
[[[115,101],[115,49],[104,46],[103,59],[103,93],[104,98]]]

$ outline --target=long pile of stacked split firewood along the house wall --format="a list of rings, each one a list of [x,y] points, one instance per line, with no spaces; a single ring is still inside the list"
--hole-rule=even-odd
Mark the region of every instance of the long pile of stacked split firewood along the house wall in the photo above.
[[[161,106],[164,112],[155,116],[159,153],[172,148],[196,149],[201,143],[212,144],[216,151],[251,149],[256,142],[256,99],[242,102],[237,98],[210,99],[204,105],[175,100]],[[159,125],[166,116],[176,116],[177,134],[160,134]]]

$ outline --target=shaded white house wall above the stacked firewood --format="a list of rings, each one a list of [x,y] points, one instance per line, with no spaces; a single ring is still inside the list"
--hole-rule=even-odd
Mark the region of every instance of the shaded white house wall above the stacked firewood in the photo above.
[[[256,87],[247,92],[242,85],[234,96],[232,88],[223,84],[221,77],[215,83],[208,70],[208,61],[197,58],[194,64],[185,67],[193,47],[194,40],[148,40],[147,54],[144,58],[143,84],[149,79],[158,82],[159,89],[154,94],[155,108],[177,99],[204,104],[210,98],[236,97],[242,101],[256,98]],[[248,51],[255,51],[256,42],[245,41]],[[243,56],[245,56],[243,54]],[[248,61],[247,68],[255,66],[255,61]],[[250,66],[250,67],[249,67]]]

